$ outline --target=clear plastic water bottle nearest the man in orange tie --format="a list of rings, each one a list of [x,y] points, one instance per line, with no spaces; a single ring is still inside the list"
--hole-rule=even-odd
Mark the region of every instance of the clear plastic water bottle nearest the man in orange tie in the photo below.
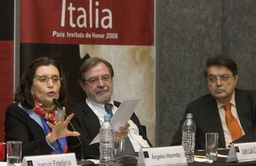
[[[192,114],[187,114],[187,119],[182,125],[182,146],[187,162],[194,162],[195,150],[195,122]]]

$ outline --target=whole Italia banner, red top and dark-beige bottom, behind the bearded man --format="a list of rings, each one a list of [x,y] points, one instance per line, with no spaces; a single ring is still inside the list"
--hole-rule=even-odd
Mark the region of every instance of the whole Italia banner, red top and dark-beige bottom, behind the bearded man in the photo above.
[[[153,42],[154,0],[20,1],[20,73],[36,57],[58,60],[67,78],[69,106],[85,101],[79,68],[98,56],[117,71],[113,98],[143,96],[137,108],[141,122],[154,120]],[[155,123],[144,124],[154,140]]]

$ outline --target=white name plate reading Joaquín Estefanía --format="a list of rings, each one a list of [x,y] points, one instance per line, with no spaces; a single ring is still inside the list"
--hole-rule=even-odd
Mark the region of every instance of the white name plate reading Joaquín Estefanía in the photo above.
[[[74,153],[25,156],[22,166],[77,166]]]

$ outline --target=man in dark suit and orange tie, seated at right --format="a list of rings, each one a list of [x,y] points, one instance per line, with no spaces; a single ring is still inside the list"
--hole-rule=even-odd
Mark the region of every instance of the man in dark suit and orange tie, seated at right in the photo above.
[[[256,91],[236,89],[237,65],[228,56],[207,60],[205,77],[210,94],[187,105],[183,120],[171,145],[181,144],[182,124],[192,113],[197,126],[195,149],[205,149],[205,133],[218,133],[218,146],[226,148],[233,141],[255,141]]]

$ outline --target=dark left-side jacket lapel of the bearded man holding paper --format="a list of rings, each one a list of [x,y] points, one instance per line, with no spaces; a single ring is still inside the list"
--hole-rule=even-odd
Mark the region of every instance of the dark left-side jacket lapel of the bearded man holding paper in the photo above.
[[[82,118],[85,127],[87,128],[90,138],[93,140],[98,133],[100,133],[100,121],[98,117],[94,114],[93,110],[83,102],[82,106]]]

